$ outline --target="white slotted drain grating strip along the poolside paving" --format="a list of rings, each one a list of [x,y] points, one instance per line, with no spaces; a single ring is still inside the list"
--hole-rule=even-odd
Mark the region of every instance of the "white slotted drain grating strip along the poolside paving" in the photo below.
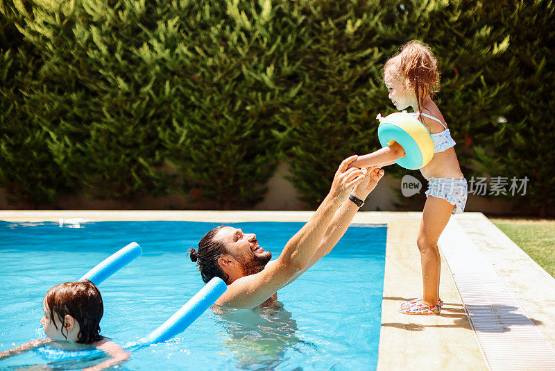
[[[439,246],[490,370],[555,370],[555,352],[453,218]]]

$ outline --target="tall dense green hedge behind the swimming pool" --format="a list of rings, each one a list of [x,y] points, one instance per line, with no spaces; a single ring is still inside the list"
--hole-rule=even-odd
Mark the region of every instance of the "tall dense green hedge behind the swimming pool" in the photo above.
[[[528,176],[518,200],[545,212],[554,7],[526,5],[0,0],[0,187],[36,207],[182,192],[249,208],[282,160],[315,205],[342,158],[377,149],[383,63],[419,39],[463,172]]]

